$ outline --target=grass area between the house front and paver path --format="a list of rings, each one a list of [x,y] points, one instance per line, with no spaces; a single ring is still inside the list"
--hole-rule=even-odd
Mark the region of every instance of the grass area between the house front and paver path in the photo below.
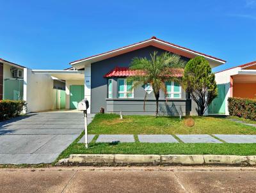
[[[96,114],[88,126],[89,134],[256,134],[256,128],[235,123],[227,118],[193,116],[194,127],[187,127],[184,118],[160,116],[124,116]]]

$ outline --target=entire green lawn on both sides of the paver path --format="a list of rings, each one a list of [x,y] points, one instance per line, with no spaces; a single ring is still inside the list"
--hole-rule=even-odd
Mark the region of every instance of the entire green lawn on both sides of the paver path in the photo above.
[[[96,134],[89,148],[77,143],[84,132],[60,158],[70,154],[124,153],[124,154],[187,154],[187,155],[256,155],[256,144],[210,144],[210,143],[140,143],[137,134],[256,134],[256,128],[235,123],[227,118],[193,117],[194,127],[187,127],[184,118],[154,116],[124,116],[97,114],[88,126],[89,134]],[[134,134],[135,143],[95,143],[99,134]],[[56,161],[57,161],[56,160]]]

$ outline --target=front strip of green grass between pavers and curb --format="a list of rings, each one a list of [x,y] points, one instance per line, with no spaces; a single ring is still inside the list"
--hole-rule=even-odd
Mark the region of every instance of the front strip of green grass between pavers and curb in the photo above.
[[[70,154],[185,154],[185,155],[256,155],[256,144],[210,144],[210,143],[95,143],[86,149],[84,144],[77,143],[84,135],[81,134],[74,143],[64,150],[57,160]],[[56,162],[57,162],[56,160]],[[56,163],[54,162],[54,164]]]

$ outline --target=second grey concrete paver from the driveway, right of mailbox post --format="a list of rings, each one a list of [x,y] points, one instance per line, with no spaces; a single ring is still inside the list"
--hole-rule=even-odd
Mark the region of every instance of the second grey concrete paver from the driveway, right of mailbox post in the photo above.
[[[99,135],[97,143],[132,143],[134,141],[133,135]]]

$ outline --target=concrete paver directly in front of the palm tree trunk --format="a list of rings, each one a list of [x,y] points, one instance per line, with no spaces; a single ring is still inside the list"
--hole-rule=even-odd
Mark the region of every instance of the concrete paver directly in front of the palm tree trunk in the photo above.
[[[172,135],[138,135],[141,143],[179,143]]]

